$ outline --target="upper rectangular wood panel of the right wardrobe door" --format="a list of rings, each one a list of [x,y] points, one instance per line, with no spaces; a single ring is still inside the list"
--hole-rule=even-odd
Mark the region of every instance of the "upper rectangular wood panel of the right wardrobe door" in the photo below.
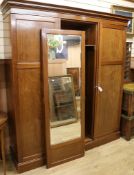
[[[124,31],[120,29],[102,28],[101,61],[122,61],[124,54]]]

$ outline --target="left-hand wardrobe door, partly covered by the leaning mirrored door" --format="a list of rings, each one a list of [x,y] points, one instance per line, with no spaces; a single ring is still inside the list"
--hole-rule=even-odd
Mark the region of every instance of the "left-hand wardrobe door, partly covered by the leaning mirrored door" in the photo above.
[[[58,28],[56,18],[15,15],[16,68],[13,70],[16,84],[15,103],[18,171],[25,171],[43,164],[44,134],[42,125],[42,95],[40,74],[41,28]]]

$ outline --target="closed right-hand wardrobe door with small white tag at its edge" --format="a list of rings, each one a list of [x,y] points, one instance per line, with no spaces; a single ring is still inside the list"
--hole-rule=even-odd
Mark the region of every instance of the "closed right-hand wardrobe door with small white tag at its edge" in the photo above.
[[[101,26],[99,78],[96,94],[94,137],[119,134],[125,28]]]

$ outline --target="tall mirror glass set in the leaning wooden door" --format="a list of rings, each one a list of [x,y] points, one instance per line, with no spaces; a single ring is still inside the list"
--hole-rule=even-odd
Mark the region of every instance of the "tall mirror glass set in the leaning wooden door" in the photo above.
[[[81,36],[47,34],[51,145],[81,137]]]

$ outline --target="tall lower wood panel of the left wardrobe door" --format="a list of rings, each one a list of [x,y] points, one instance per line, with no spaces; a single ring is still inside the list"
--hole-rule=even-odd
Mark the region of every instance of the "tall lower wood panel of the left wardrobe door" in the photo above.
[[[18,71],[20,138],[23,157],[42,152],[40,70]]]

